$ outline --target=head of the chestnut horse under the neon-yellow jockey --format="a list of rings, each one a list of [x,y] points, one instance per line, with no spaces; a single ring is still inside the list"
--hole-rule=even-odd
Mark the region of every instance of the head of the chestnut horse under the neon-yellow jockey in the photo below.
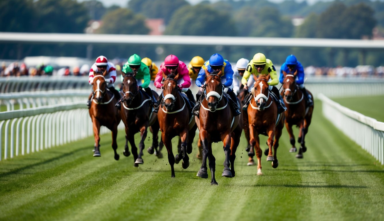
[[[253,87],[253,99],[255,99],[256,105],[259,107],[260,111],[264,111],[264,107],[269,98],[269,77],[269,74],[259,74],[259,76],[253,76],[255,79],[255,86]]]

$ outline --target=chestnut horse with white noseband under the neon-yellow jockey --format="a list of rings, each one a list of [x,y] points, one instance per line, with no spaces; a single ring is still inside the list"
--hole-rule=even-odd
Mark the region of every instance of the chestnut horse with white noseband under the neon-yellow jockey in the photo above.
[[[251,99],[247,110],[251,144],[248,156],[253,157],[255,155],[255,148],[257,157],[257,175],[263,175],[261,164],[262,150],[260,148],[259,134],[268,136],[266,160],[272,161],[272,167],[277,168],[279,163],[276,153],[284,127],[285,115],[280,114],[278,116],[277,114],[278,104],[276,104],[275,100],[272,98],[271,94],[273,92],[268,89],[268,79],[270,78],[270,75],[259,74],[258,77],[253,76],[253,78],[255,79],[253,99]]]

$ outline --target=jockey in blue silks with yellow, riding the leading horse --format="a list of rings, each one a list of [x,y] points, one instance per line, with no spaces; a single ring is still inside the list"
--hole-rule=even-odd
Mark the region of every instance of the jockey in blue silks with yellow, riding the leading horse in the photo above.
[[[237,103],[236,94],[232,91],[233,85],[233,70],[232,66],[227,59],[224,59],[220,54],[213,54],[208,61],[205,61],[202,69],[199,72],[199,76],[196,79],[196,85],[200,87],[199,91],[196,94],[196,105],[194,107],[193,113],[197,116],[199,115],[200,107],[200,98],[203,94],[203,82],[205,83],[205,70],[208,70],[209,73],[212,73],[217,70],[222,71],[221,82],[225,86],[224,92],[226,92],[232,99],[233,109],[235,109],[234,115],[237,116],[241,112],[239,110],[239,105]]]

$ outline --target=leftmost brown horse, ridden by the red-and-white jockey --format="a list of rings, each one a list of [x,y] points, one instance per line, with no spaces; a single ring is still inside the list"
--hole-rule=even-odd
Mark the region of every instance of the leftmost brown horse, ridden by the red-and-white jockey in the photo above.
[[[100,142],[100,126],[105,126],[112,131],[112,148],[114,151],[115,160],[119,160],[119,155],[116,152],[118,145],[116,137],[118,135],[118,125],[120,123],[120,111],[116,109],[115,104],[118,101],[113,92],[107,88],[107,83],[103,74],[93,72],[93,99],[89,108],[89,116],[92,119],[93,133],[95,137],[94,157],[100,157],[99,142]]]

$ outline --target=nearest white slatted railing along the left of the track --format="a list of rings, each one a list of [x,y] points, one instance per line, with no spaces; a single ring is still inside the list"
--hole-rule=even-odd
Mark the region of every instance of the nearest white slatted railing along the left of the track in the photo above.
[[[123,129],[124,124],[119,124]],[[110,132],[101,127],[100,134]],[[38,152],[93,135],[84,102],[0,112],[0,160]],[[89,144],[93,147],[93,143]]]

